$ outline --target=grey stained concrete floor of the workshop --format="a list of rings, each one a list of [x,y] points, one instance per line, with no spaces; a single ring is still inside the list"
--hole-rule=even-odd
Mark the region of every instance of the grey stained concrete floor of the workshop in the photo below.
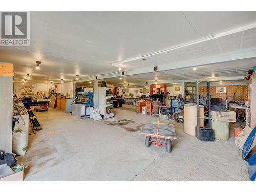
[[[228,141],[201,142],[176,124],[178,140],[172,153],[166,153],[165,146],[145,147],[145,137],[136,131],[157,118],[122,109],[115,113],[114,120],[131,120],[125,126],[135,131],[56,109],[35,112],[44,129],[29,136],[26,155],[18,157],[19,163],[29,165],[25,181],[249,180],[232,131]]]

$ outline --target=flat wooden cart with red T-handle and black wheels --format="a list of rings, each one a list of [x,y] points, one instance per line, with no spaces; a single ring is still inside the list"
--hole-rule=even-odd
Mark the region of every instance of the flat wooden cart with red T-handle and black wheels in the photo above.
[[[152,143],[155,146],[166,146],[166,151],[170,153],[172,151],[172,139],[177,139],[174,125],[167,123],[160,123],[160,112],[161,107],[164,105],[155,105],[159,106],[158,122],[157,129],[156,123],[146,123],[143,129],[140,131],[140,134],[146,136],[145,145],[149,147]],[[161,128],[160,128],[161,125]]]

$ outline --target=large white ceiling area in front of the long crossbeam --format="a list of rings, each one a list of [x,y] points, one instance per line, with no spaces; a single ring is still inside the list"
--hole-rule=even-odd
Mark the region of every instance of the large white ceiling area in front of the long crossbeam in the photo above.
[[[22,81],[27,73],[31,74],[31,82],[59,82],[61,78],[71,81],[75,80],[76,74],[85,78],[117,72],[117,67],[111,63],[255,22],[256,12],[249,11],[33,11],[30,12],[30,47],[0,47],[0,61],[14,63],[16,81]],[[234,33],[151,56],[145,62],[128,62],[123,68],[138,69],[256,49],[255,34],[255,29]],[[40,70],[35,70],[35,60],[42,62]],[[246,73],[243,65],[250,65],[247,61],[238,64],[237,70],[242,70],[241,74]],[[171,79],[194,77],[192,74],[185,75],[159,72],[157,76]],[[235,74],[230,72],[230,75]]]

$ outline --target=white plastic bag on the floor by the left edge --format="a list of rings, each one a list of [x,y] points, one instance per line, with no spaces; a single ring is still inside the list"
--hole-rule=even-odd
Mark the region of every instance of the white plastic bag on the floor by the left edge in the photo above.
[[[24,156],[27,151],[27,136],[21,129],[16,129],[12,134],[12,151],[20,156]]]

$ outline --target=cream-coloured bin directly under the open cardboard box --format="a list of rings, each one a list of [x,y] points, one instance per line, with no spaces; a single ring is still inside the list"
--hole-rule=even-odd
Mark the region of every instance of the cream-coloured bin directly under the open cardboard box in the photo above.
[[[229,122],[211,120],[211,129],[214,130],[215,139],[229,139]]]

